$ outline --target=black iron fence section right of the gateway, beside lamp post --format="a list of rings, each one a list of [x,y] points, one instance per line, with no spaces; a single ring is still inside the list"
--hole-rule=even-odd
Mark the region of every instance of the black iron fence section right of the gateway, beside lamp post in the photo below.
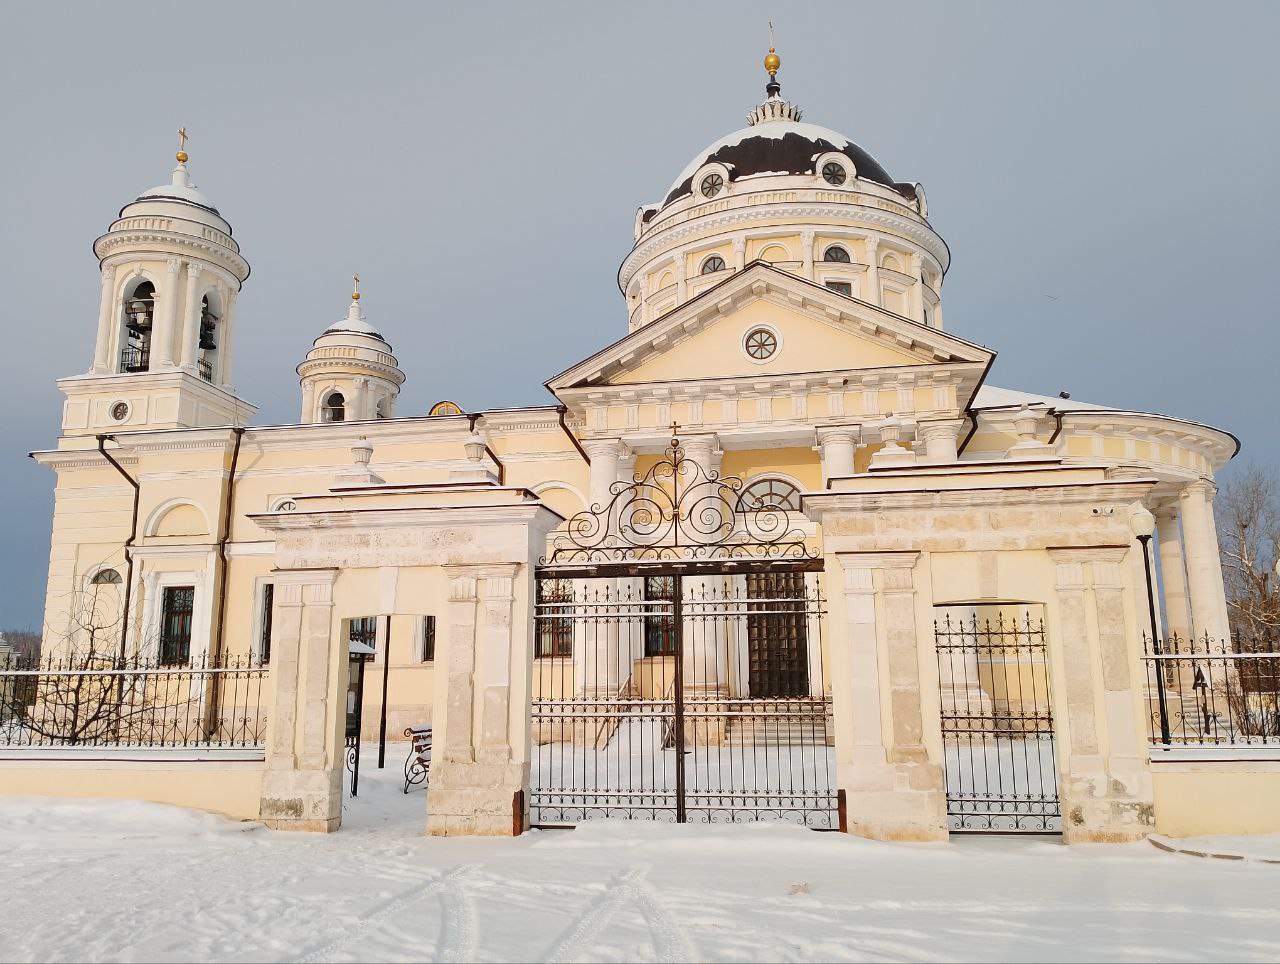
[[[1157,746],[1280,749],[1280,644],[1143,638],[1147,718]]]

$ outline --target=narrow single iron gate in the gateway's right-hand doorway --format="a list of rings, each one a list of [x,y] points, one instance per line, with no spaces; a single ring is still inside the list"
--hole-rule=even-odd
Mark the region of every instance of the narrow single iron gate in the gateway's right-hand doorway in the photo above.
[[[1061,832],[1043,622],[947,613],[934,643],[951,831]]]

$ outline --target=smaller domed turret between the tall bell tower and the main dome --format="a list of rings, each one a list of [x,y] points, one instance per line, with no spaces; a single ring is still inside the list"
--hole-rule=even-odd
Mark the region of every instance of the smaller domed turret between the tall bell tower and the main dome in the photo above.
[[[302,421],[365,421],[396,416],[404,384],[392,346],[365,319],[360,275],[352,278],[347,316],[329,325],[298,365]]]

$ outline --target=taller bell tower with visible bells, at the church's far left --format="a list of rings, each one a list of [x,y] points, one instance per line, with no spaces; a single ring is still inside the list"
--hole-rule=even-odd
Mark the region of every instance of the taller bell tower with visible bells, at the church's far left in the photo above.
[[[243,425],[232,388],[236,298],[248,262],[232,227],[191,182],[178,132],[169,183],[120,209],[93,242],[102,271],[93,361],[60,379],[63,434]]]

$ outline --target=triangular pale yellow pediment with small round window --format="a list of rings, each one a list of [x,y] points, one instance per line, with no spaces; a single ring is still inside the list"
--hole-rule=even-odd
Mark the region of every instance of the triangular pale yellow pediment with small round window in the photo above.
[[[776,351],[764,360],[744,349],[744,338],[759,328],[777,335]],[[957,362],[986,366],[993,356],[936,328],[756,262],[557,375],[547,387],[556,392]]]

